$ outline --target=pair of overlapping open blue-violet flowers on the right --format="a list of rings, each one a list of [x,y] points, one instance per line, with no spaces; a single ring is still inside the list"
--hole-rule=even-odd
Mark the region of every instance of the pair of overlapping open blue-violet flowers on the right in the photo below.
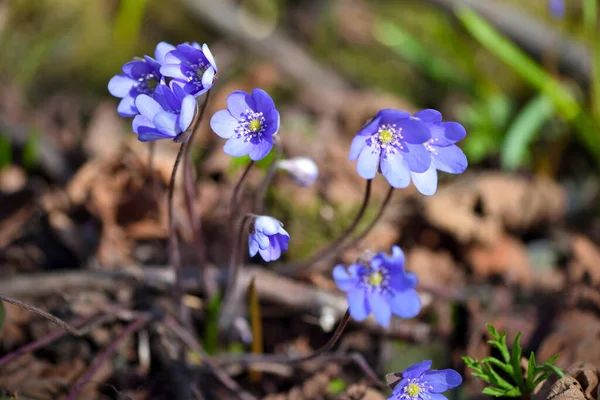
[[[437,170],[460,174],[467,158],[456,142],[466,131],[457,122],[442,122],[436,110],[414,115],[385,109],[377,113],[354,137],[350,161],[357,161],[358,174],[373,179],[381,172],[395,188],[405,188],[411,178],[426,195],[437,189]]]

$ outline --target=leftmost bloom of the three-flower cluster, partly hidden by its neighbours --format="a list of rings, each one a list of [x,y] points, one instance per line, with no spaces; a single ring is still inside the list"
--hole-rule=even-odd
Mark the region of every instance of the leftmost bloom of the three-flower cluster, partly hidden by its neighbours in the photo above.
[[[173,50],[172,45],[160,42],[154,50],[154,58],[144,56],[123,65],[123,73],[115,75],[108,82],[108,91],[115,97],[122,98],[117,112],[122,117],[133,117],[138,114],[135,99],[145,94],[154,96],[156,87],[162,81],[160,65],[165,55]],[[164,83],[164,82],[163,82]]]

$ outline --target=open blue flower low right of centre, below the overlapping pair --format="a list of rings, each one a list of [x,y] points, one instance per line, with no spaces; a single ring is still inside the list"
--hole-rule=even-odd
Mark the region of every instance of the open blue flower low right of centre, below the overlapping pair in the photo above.
[[[333,269],[336,285],[348,296],[350,314],[363,321],[372,312],[382,326],[390,324],[392,314],[412,318],[421,310],[415,274],[404,269],[404,253],[392,247],[392,256],[376,254],[369,266],[352,264],[348,270],[343,265]]]

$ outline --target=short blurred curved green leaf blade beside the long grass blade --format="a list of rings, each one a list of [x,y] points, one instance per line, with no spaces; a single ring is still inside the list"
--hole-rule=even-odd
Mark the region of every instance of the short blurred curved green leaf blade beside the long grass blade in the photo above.
[[[529,146],[553,114],[554,104],[546,95],[540,94],[527,103],[506,132],[500,154],[503,168],[515,170],[524,164]]]

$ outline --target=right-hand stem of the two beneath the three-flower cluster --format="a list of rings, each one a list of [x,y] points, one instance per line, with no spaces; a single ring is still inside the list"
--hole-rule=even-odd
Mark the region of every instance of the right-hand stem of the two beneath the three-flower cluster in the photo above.
[[[190,225],[192,228],[192,240],[194,242],[194,249],[196,250],[196,254],[198,255],[198,264],[200,265],[200,269],[202,271],[202,283],[204,285],[205,293],[209,298],[211,298],[215,292],[216,288],[213,288],[210,285],[210,279],[207,276],[207,268],[206,268],[206,247],[204,244],[204,237],[202,235],[202,221],[200,220],[200,215],[196,212],[194,204],[196,203],[196,193],[195,193],[195,181],[196,177],[194,174],[192,161],[190,159],[190,149],[192,141],[198,132],[202,119],[204,118],[204,114],[206,112],[206,108],[208,106],[208,100],[210,98],[210,90],[206,92],[206,97],[204,98],[204,102],[202,106],[200,106],[199,112],[196,113],[194,121],[192,121],[191,125],[191,135],[188,138],[187,146],[185,148],[185,152],[183,154],[183,186],[184,186],[184,194],[185,194],[185,205],[187,208],[188,217],[190,219]]]

